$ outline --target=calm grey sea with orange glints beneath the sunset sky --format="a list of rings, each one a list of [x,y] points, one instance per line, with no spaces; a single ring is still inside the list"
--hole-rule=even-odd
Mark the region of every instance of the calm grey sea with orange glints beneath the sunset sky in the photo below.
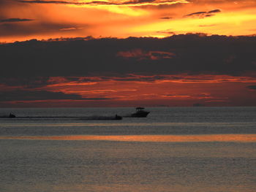
[[[0,109],[0,191],[256,191],[256,107],[146,110]]]

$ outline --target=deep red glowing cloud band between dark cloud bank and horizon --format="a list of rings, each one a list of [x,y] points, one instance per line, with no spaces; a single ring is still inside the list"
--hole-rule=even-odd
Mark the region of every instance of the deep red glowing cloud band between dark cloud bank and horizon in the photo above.
[[[43,106],[50,102],[53,106],[85,104],[91,107],[131,107],[137,103],[145,106],[256,105],[256,80],[253,77],[131,74],[130,77],[51,77],[48,83],[38,88],[20,87],[23,91],[2,85],[1,98],[9,100],[0,103],[17,105],[22,101],[23,104]]]

